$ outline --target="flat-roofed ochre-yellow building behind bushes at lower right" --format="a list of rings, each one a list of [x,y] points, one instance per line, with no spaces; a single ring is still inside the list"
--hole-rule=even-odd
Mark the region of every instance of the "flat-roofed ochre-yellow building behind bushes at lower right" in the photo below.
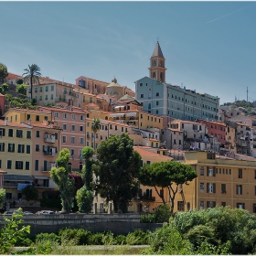
[[[197,178],[183,186],[184,200],[176,197],[175,211],[230,206],[256,213],[256,162],[217,158],[210,152],[186,152],[185,164]]]

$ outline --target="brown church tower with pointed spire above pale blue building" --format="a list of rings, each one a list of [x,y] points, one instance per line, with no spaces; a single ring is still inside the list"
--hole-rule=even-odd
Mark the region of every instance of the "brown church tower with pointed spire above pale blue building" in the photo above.
[[[154,80],[165,82],[165,57],[157,41],[155,50],[150,59],[149,77]]]

